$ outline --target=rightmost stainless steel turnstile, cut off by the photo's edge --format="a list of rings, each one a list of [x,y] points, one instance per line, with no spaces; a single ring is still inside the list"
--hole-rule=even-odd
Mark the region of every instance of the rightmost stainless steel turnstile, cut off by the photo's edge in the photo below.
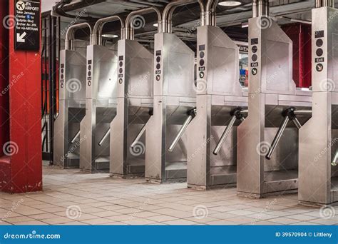
[[[312,118],[299,131],[298,198],[305,205],[338,202],[337,14],[312,9]]]

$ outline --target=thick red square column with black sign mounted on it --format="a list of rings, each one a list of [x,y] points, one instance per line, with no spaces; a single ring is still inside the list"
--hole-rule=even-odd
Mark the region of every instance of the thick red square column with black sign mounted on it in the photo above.
[[[9,0],[9,6],[4,2],[1,20],[9,16],[13,21],[15,0]],[[6,9],[9,15],[4,13]],[[6,97],[0,100],[0,189],[9,193],[42,190],[41,56],[39,51],[15,51],[13,26],[3,29],[1,32],[9,32],[9,42],[1,45],[1,52],[9,58],[7,64],[1,63],[1,71],[8,70],[8,75],[0,80],[1,88],[7,88]]]

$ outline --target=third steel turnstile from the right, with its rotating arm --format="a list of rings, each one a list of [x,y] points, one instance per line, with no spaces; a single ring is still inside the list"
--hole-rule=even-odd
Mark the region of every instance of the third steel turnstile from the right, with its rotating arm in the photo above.
[[[197,115],[188,133],[188,187],[233,186],[237,126],[247,114],[239,50],[217,26],[198,27]]]

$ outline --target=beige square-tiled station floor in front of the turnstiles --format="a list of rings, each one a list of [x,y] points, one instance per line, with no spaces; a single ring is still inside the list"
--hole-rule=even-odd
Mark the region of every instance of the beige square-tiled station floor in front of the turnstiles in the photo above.
[[[188,189],[78,170],[43,168],[43,192],[0,193],[1,225],[337,225],[338,207],[299,205],[297,195],[241,198],[235,188]]]

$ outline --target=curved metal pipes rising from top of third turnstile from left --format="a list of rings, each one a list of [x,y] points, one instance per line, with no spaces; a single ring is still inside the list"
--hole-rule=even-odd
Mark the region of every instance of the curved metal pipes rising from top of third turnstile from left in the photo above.
[[[139,9],[136,11],[132,11],[130,14],[128,14],[127,18],[126,18],[126,24],[125,24],[125,31],[126,31],[126,39],[129,40],[133,40],[134,39],[134,29],[135,26],[133,26],[134,24],[141,24],[144,25],[144,19],[140,18],[140,14],[148,14],[151,12],[155,12],[158,15],[158,33],[162,32],[162,12],[160,11],[160,9],[151,6],[149,8],[145,8],[145,9]],[[135,21],[135,22],[134,22]],[[136,23],[137,21],[137,23]]]

